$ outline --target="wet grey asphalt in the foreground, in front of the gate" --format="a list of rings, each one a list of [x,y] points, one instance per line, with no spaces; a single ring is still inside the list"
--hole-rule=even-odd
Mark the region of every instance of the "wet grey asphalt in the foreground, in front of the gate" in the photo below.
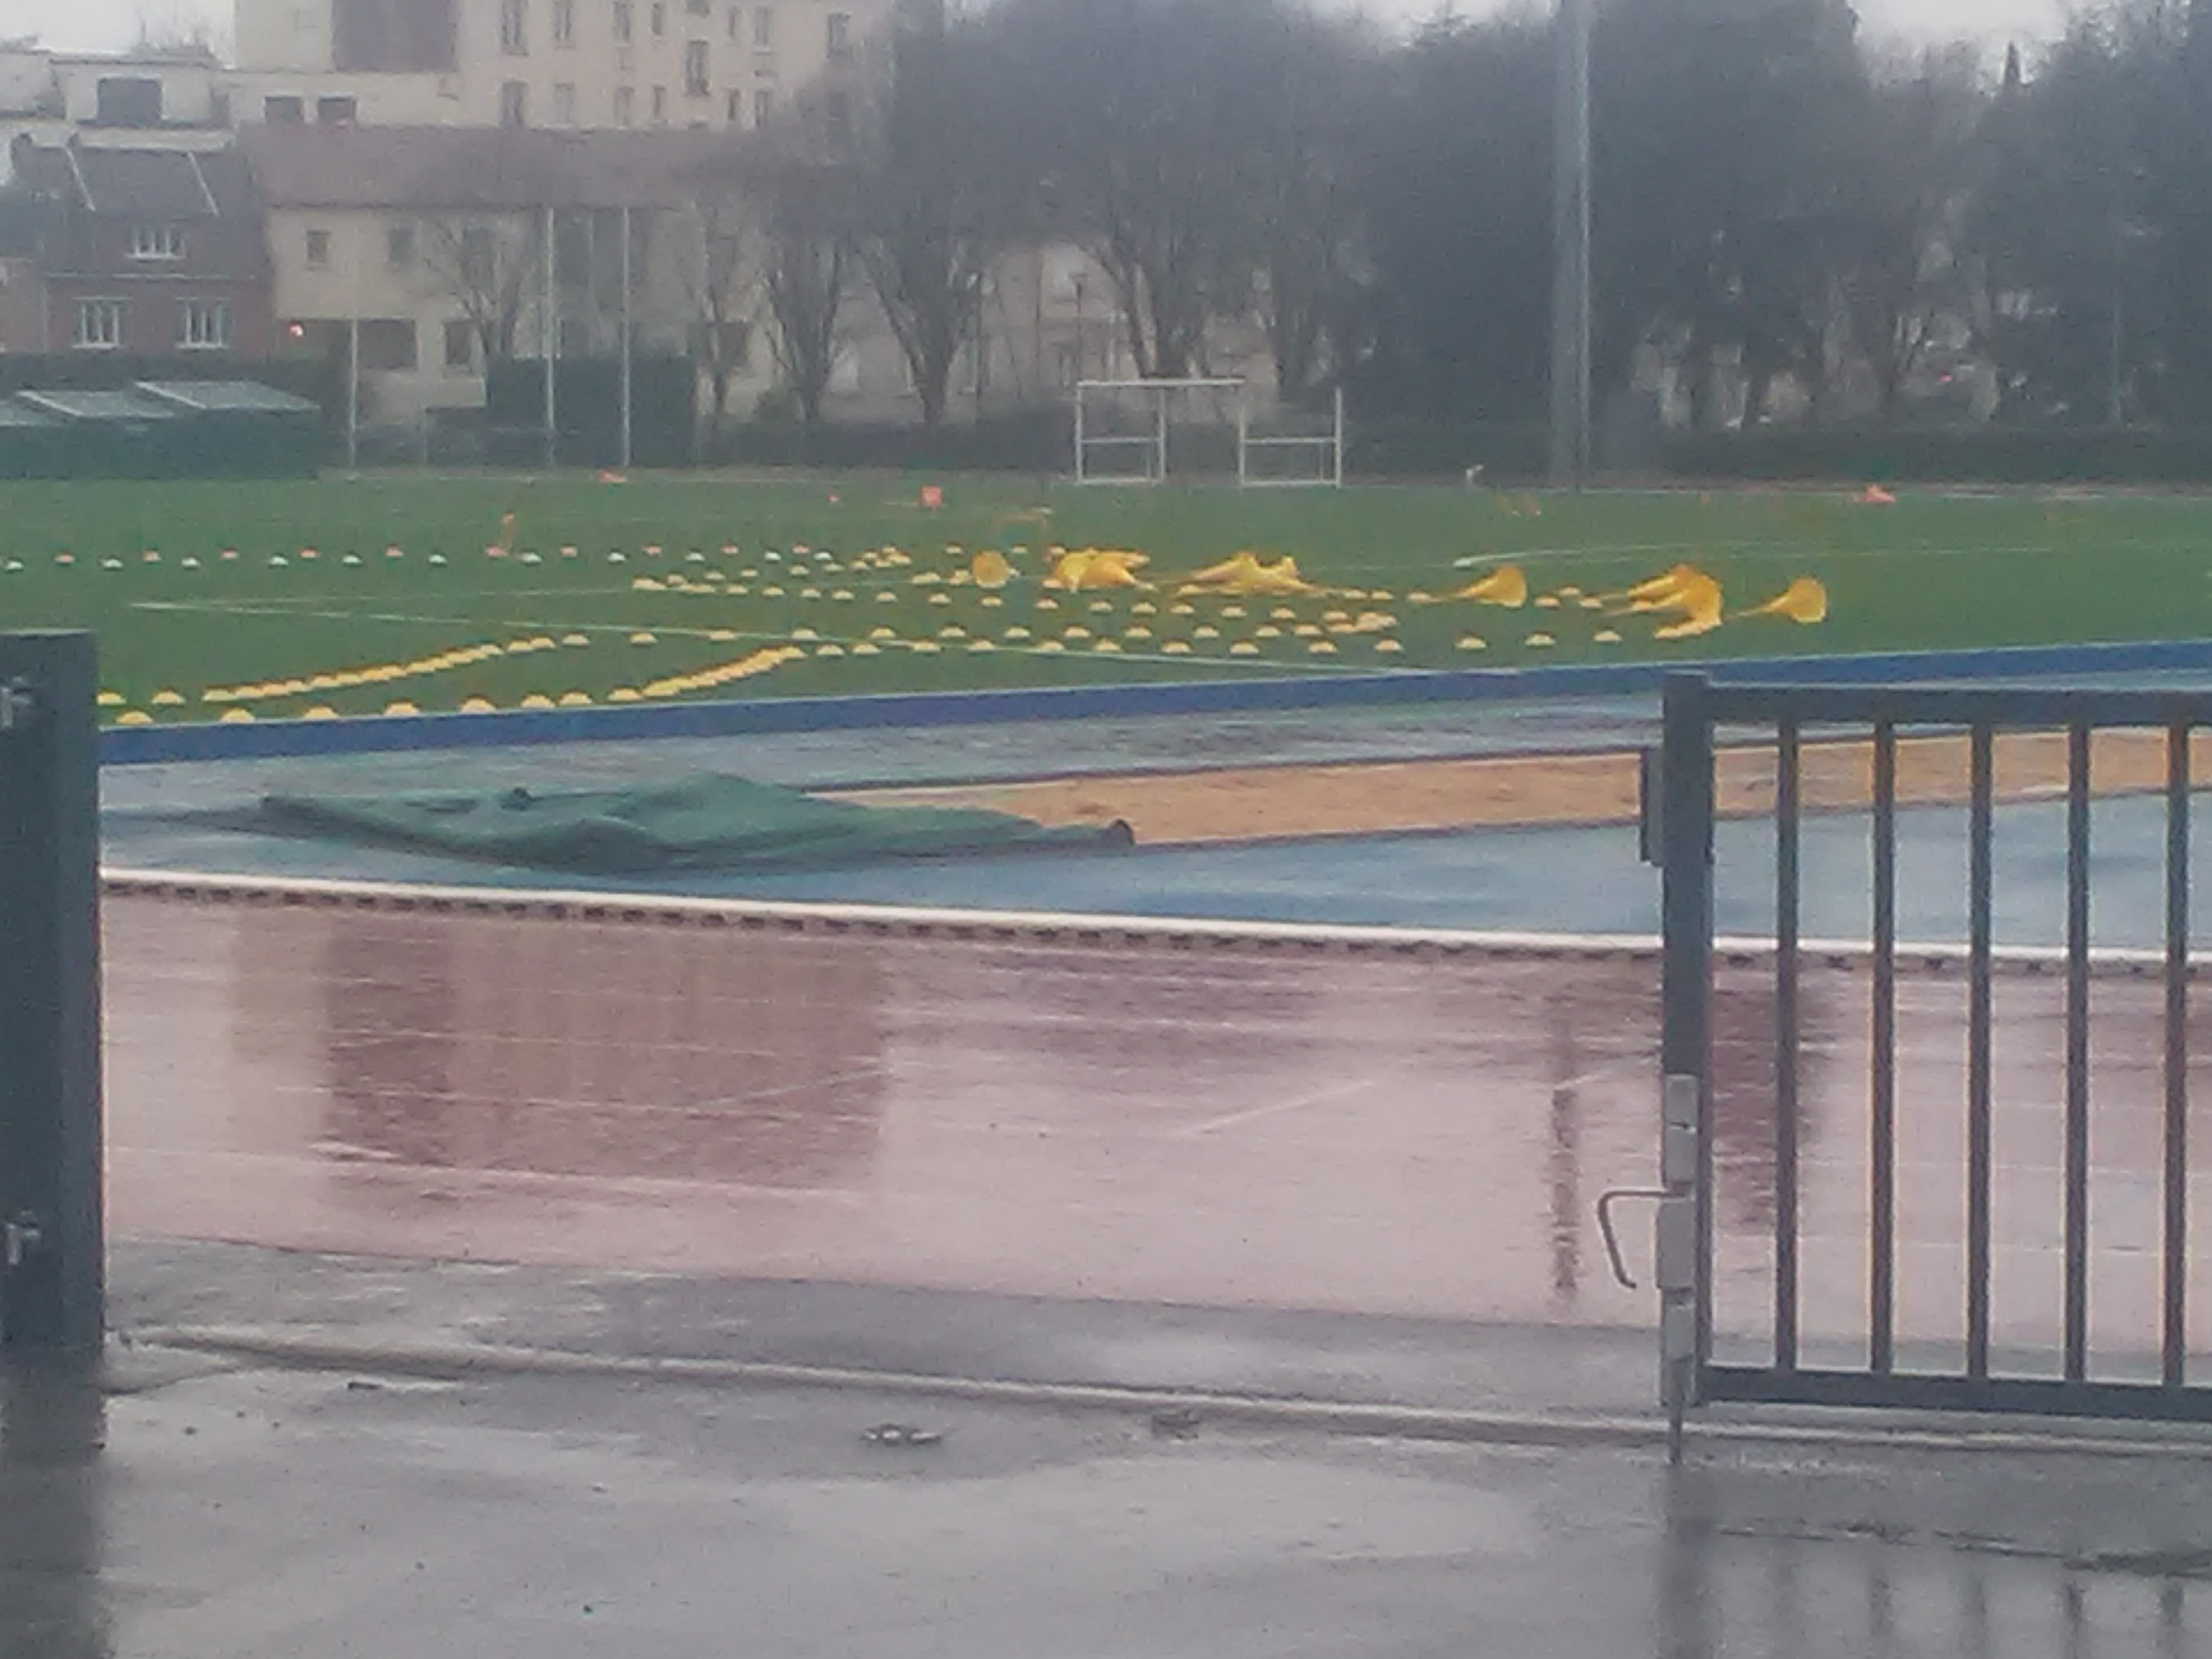
[[[920,1447],[872,1444],[911,1422]],[[7,1659],[2183,1659],[2201,1455],[1500,1449],[604,1378],[0,1380]]]

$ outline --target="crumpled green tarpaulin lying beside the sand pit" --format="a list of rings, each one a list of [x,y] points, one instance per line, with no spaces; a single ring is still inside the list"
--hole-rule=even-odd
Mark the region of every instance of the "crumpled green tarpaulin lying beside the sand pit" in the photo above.
[[[250,827],[606,876],[1104,849],[1133,841],[1126,823],[1048,830],[1006,812],[869,807],[712,774],[575,794],[272,794],[250,814]]]

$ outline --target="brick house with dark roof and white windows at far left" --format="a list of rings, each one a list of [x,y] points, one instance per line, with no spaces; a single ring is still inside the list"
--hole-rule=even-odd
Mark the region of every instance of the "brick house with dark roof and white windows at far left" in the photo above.
[[[9,307],[9,352],[268,358],[270,257],[237,150],[18,139],[35,215],[38,303]]]

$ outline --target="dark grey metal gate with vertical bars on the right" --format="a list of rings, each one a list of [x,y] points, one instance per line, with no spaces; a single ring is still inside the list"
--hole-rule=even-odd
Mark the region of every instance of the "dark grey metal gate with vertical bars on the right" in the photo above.
[[[1646,845],[1663,865],[1666,1194],[1655,1197],[1661,1197],[1657,1243],[1666,1389],[1677,1431],[1681,1413],[1705,1402],[2212,1420],[2212,1374],[2192,1376],[2190,1365],[2190,750],[2199,728],[2212,728],[2212,695],[1668,679],[1657,776],[1648,772]],[[1717,734],[1725,734],[1728,743],[1717,743]],[[1900,757],[1909,763],[1902,792]],[[2046,832],[2053,849],[2064,845],[2062,885],[2046,878],[2046,896],[2037,900],[2051,905],[2053,918],[2064,916],[2053,929],[2062,933],[2055,947],[2017,949],[1995,940],[1997,878],[2006,878],[2008,891],[2020,885],[2020,872],[2000,872],[1993,854],[2000,757],[2017,796],[2048,796],[2039,807],[2044,816],[2028,827]],[[1812,776],[1823,785],[1814,799],[1807,799],[1809,759],[1816,761]],[[2039,761],[2039,781],[2020,785],[2013,776],[2020,759]],[[2115,759],[2126,765],[2110,768]],[[2126,807],[2135,814],[2128,823],[2139,854],[2139,902],[2135,916],[2121,920],[2139,925],[2137,949],[2093,949],[2093,783],[2104,783],[2106,794],[2143,796]],[[1763,799],[1767,785],[1770,805]],[[1942,834],[1955,834],[1955,807],[1964,807],[1964,867],[1955,872],[1964,896],[1964,940],[1905,947],[1907,973],[1922,975],[1907,987],[1911,1015],[1922,1022],[1916,1033],[1938,1033],[1938,1046],[1922,1042],[1907,1068],[1900,1121],[1900,812],[1949,814],[1913,823],[1949,825]],[[1801,927],[1805,827],[1823,810],[1856,812],[1865,823],[1865,843],[1836,816],[1818,830],[1823,847],[1834,852],[1847,845],[1854,863],[1865,845],[1865,863],[1856,867],[1871,867],[1871,880],[1865,874],[1851,878],[1847,902],[1854,914],[1836,927],[1843,942],[1812,945]],[[1767,814],[1772,841],[1756,823],[1721,830],[1721,878],[1730,876],[1730,860],[1739,869],[1756,863],[1763,885],[1763,860],[1772,847],[1772,929],[1719,942],[1739,1002],[1728,1037],[1739,1066],[1747,1046],[1772,1040],[1770,1055],[1754,1055],[1759,1091],[1752,1128],[1741,1113],[1730,1119],[1730,1179],[1754,1166],[1761,1203],[1759,1225],[1747,1225],[1736,1212],[1725,1219],[1723,1243],[1734,1252],[1730,1287],[1750,1314],[1732,1307],[1723,1329],[1717,1327],[1717,818],[1756,821]],[[2159,854],[2148,852],[2150,814],[2163,821]],[[1745,845],[1754,834],[1759,854],[1747,858]],[[1922,843],[1916,843],[1916,860]],[[2051,874],[2055,863],[2051,858]],[[1922,889],[1924,883],[1913,891],[1924,896]],[[2161,891],[2161,909],[2150,902],[2150,891]],[[1816,898],[1834,918],[1836,885]],[[1801,1075],[1809,1053],[1801,993],[1809,960],[1832,984],[1847,989],[1847,995],[1832,998],[1832,1013],[1840,1013],[1829,1020],[1832,1042],[1820,1055],[1827,1066],[1820,1095],[1829,1119],[1823,1124],[1825,1217],[1814,1245],[1807,1245],[1801,1181],[1807,1124]],[[2000,987],[2006,975],[2024,989]],[[2121,982],[2099,995],[2130,998],[2128,1029],[2146,1040],[2141,1046],[2148,1048],[2148,1033],[2157,1031],[2157,1053],[2128,1062],[2135,1079],[2128,1102],[2093,1095],[2093,982]],[[1942,989],[1938,998],[1929,984],[1955,989]],[[2002,1055],[1993,1020],[1997,989],[2004,989],[2008,1009],[2031,995],[2051,1004],[2015,1022],[2017,1029],[2008,1026],[2013,1048]],[[1958,993],[1962,1020],[1949,1009],[1949,998]],[[1743,1004],[1756,1011],[1756,1035],[1750,1040],[1743,1035]],[[1933,1013],[1929,1004],[1936,1004]],[[1962,1055],[1949,1048],[1951,1020]],[[2048,1060],[2033,1060],[2033,1071],[2022,1075],[2031,1066],[2026,1051],[2042,1042],[2051,1044]],[[1838,1051],[1849,1055],[1840,1077],[1834,1064]],[[1960,1068],[1962,1084],[1955,1102],[1949,1099],[1951,1066]],[[1931,1079],[1942,1084],[1936,1095]],[[1734,1088],[1732,1106],[1743,1093]],[[2037,1099],[2022,1104],[2008,1095]],[[2015,1161],[2022,1159],[2017,1146],[2008,1146],[2008,1137],[2022,1139],[2022,1124],[2044,1137],[2044,1150],[2024,1164]],[[1909,1274],[1902,1279],[1900,1128],[1911,1133],[1916,1217],[1929,1212],[1929,1192],[1942,1199],[1933,1206],[1942,1212],[1933,1237],[1907,1239]],[[2126,1307],[2115,1298],[2112,1307],[2099,1310],[2104,1318],[2093,1327],[2093,1259],[2101,1225],[2093,1214],[2093,1155],[2106,1133],[2132,1148],[2130,1179],[2141,1188],[2128,1192],[2135,1201],[2130,1241],[2112,1245],[2128,1256],[2121,1265],[2135,1274],[2128,1283],[2137,1296]],[[1929,1168],[1929,1144],[1942,1146],[1944,1168]],[[1845,1166],[1847,1181],[1829,1179]],[[1993,1194],[1993,1177],[2004,1181],[2002,1194]],[[1838,1188],[1849,1192],[1836,1197]],[[2028,1210],[2039,1208],[2039,1214],[2024,1212],[2022,1190],[2035,1199]],[[2006,1234],[1995,1241],[2008,1267],[2006,1318],[2026,1305],[2026,1318],[2048,1323],[2048,1345],[2042,1338],[2026,1347],[1993,1340],[1993,1197],[2004,1197],[2006,1212]],[[1955,1237],[1949,1232],[1953,1225]],[[2042,1228],[2033,1248],[2017,1245],[2022,1228]],[[1818,1254],[1809,1256],[1809,1248]],[[1754,1272],[1739,1270],[1745,1256],[1754,1261]],[[2115,1256],[2108,1252],[2097,1261],[2104,1272]],[[1805,1327],[1809,1267],[1818,1270],[1825,1290],[1820,1323],[1812,1332]],[[1916,1318],[1907,1329],[1900,1329],[1900,1290],[1911,1298]]]

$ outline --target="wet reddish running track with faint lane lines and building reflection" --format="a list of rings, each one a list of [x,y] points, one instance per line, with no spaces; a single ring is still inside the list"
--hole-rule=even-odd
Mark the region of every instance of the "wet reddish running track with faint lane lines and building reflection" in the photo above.
[[[1599,1192],[1652,1175],[1648,953],[712,920],[111,898],[115,1230],[1048,1298],[1650,1318],[1593,1221]],[[1816,1354],[1865,1329],[1867,995],[1860,969],[1825,962],[1801,991]],[[2112,1376],[2135,1376],[2157,1332],[2159,998],[2117,975],[2093,1006],[2090,1312]],[[1997,987],[1993,1329],[2028,1374],[2057,1336],[2057,1006],[2051,978]],[[1955,973],[1907,971],[1898,1329],[1936,1360],[1964,1325],[1962,1009]],[[1756,1352],[1767,969],[1723,969],[1714,1029],[1721,1329]],[[2194,1053],[2212,1102],[2212,1031]],[[2212,1263],[2212,1234],[2194,1250]]]

